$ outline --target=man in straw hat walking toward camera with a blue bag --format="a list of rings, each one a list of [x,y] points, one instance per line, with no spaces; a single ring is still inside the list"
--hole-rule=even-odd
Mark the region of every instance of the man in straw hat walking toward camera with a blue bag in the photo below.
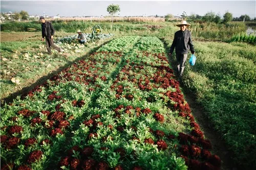
[[[178,76],[179,76],[179,81],[181,81],[183,71],[185,68],[185,62],[187,59],[187,53],[190,50],[192,54],[195,54],[195,49],[191,39],[191,32],[186,30],[186,28],[188,28],[190,24],[187,23],[185,20],[182,20],[176,26],[180,27],[180,31],[177,31],[174,34],[174,40],[172,45],[170,46],[170,53],[169,53],[168,60],[170,63],[170,57],[172,56],[175,48],[177,67],[178,67]]]

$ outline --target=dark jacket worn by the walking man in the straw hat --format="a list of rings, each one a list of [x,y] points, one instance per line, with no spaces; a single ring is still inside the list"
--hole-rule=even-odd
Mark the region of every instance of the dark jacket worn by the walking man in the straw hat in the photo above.
[[[194,45],[191,40],[191,32],[185,30],[183,34],[182,30],[177,31],[174,34],[174,40],[170,46],[170,54],[173,54],[174,48],[176,54],[187,54],[189,50],[191,53],[195,53]]]

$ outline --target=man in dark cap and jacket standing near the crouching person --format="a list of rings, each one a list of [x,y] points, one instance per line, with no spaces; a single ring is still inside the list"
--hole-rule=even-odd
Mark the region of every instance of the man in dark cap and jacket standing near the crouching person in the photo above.
[[[46,21],[44,16],[40,16],[39,21],[41,21],[42,27],[42,41],[46,39],[47,53],[52,54],[51,47],[58,52],[63,52],[63,50],[53,42],[53,35],[55,30],[53,28],[52,22]]]

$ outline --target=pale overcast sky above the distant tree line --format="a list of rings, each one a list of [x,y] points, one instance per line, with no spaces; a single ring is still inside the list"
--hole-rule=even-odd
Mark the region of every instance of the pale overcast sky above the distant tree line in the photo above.
[[[54,16],[106,16],[106,8],[110,4],[118,4],[119,16],[187,15],[191,13],[205,15],[207,12],[223,14],[228,11],[233,17],[249,15],[256,17],[256,1],[2,1],[1,12],[27,11],[30,15]]]

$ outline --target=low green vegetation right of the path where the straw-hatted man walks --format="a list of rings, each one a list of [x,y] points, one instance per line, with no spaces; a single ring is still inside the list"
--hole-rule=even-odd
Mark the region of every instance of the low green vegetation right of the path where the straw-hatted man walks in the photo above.
[[[187,64],[184,86],[197,95],[206,116],[232,151],[234,162],[253,169],[256,48],[241,42],[199,41],[195,47],[197,61],[195,66]]]

